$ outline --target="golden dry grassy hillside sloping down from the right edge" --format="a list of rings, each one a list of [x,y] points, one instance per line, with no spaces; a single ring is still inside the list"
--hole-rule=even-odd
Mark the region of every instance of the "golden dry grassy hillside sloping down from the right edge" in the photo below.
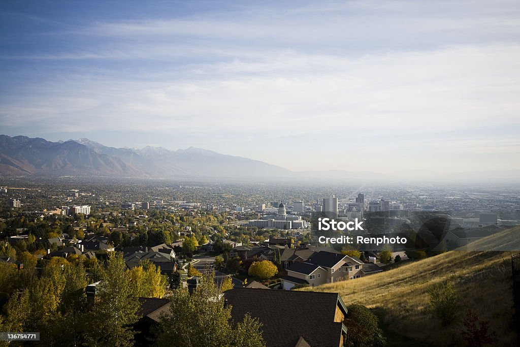
[[[474,242],[472,249],[514,249],[520,228]],[[507,247],[504,247],[507,246]],[[516,248],[519,249],[519,248]],[[498,345],[516,345],[513,327],[511,254],[505,251],[450,251],[383,273],[303,290],[339,292],[349,305],[360,303],[382,319],[388,340],[402,336],[434,345],[463,345],[462,319],[469,309],[489,320]],[[428,312],[428,286],[455,275],[462,309],[456,323],[444,327]]]

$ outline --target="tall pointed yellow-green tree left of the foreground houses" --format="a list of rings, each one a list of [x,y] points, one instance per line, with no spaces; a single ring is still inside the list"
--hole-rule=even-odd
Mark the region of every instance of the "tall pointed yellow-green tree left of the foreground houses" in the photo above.
[[[139,307],[134,293],[122,254],[111,254],[96,291],[93,309],[86,317],[85,341],[88,345],[133,344],[131,325],[137,322]]]

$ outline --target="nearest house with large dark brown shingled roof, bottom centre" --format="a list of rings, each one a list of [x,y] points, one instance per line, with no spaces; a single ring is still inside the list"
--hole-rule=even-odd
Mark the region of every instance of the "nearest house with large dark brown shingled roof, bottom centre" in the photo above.
[[[337,293],[233,288],[224,292],[233,324],[262,323],[266,347],[342,347],[347,308]]]

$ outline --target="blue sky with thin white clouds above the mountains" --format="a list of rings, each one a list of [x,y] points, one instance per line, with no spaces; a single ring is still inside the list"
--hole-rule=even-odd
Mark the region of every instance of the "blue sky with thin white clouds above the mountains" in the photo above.
[[[3,1],[0,133],[520,170],[517,1]]]

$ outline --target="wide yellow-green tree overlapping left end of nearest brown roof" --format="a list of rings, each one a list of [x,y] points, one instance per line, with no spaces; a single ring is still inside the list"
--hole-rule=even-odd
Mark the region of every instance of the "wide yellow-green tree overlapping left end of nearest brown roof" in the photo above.
[[[210,300],[209,300],[210,299]],[[233,328],[231,307],[224,306],[222,291],[214,284],[210,272],[200,286],[188,292],[179,288],[171,297],[170,313],[161,317],[157,330],[158,346],[264,346],[260,324],[246,317]],[[175,329],[172,329],[175,327]]]

